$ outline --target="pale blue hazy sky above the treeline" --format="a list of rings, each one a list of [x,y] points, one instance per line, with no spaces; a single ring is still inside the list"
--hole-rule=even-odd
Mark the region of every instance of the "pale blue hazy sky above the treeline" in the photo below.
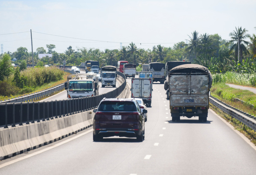
[[[0,54],[54,44],[72,49],[152,50],[187,42],[193,31],[229,40],[236,27],[256,34],[256,0],[0,0]],[[249,41],[249,39],[248,39]]]

